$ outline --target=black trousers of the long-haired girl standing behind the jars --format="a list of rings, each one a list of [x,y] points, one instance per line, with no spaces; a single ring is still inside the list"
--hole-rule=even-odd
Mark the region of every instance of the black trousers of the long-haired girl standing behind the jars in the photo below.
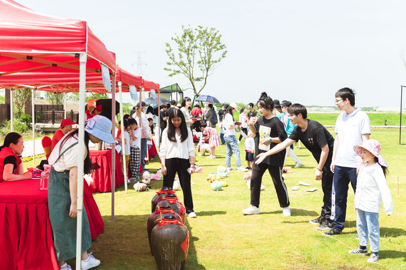
[[[165,159],[166,175],[163,176],[163,186],[173,187],[175,175],[178,173],[179,182],[183,191],[183,204],[186,208],[186,213],[193,211],[192,189],[190,187],[190,175],[186,171],[190,167],[189,159],[185,158],[167,158]]]

